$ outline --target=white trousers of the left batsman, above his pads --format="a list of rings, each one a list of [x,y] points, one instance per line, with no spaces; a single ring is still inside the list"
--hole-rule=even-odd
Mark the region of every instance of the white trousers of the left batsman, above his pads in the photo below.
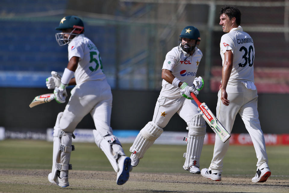
[[[106,80],[84,82],[71,90],[71,97],[60,119],[59,127],[65,132],[72,133],[82,118],[90,113],[96,130],[102,136],[112,134],[111,108],[112,94]]]

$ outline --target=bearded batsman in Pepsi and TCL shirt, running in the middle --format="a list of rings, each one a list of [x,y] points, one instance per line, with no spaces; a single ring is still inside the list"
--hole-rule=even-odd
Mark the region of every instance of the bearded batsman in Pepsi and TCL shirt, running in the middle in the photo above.
[[[199,62],[203,56],[198,46],[199,30],[193,26],[185,27],[180,34],[178,46],[166,54],[162,68],[162,90],[157,99],[154,116],[141,129],[130,147],[132,166],[137,166],[146,150],[163,133],[163,128],[177,112],[188,127],[187,152],[184,153],[183,168],[191,173],[200,174],[200,155],[206,134],[206,122],[197,110],[190,93],[197,95],[204,86],[201,77],[195,78]]]

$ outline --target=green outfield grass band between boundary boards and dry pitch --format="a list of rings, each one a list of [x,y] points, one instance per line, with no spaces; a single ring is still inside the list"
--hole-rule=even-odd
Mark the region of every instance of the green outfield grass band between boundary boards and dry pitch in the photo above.
[[[0,169],[51,169],[52,142],[35,140],[0,141]],[[104,153],[94,143],[74,143],[76,151],[71,153],[73,170],[113,171]],[[123,144],[129,156],[131,144]],[[185,158],[184,145],[154,144],[140,160],[133,172],[187,173],[182,169]],[[289,147],[267,146],[272,177],[289,179]],[[213,146],[204,145],[200,167],[208,167],[213,155]],[[256,154],[253,146],[230,146],[224,159],[222,176],[254,176]]]

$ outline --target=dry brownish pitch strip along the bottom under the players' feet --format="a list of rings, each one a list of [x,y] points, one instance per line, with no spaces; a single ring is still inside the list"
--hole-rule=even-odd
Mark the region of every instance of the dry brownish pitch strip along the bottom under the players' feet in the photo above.
[[[116,185],[115,172],[72,170],[70,186],[48,182],[49,170],[0,170],[0,192],[289,192],[288,180],[269,177],[252,183],[253,176],[223,176],[215,182],[201,175],[131,172],[124,185]]]

